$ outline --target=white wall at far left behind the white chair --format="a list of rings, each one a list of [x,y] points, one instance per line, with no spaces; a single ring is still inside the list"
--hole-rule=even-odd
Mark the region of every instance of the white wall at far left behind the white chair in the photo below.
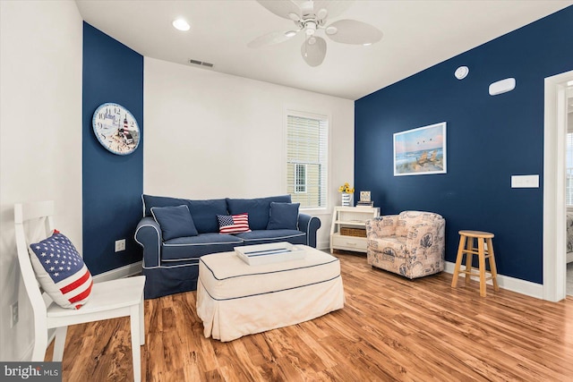
[[[33,342],[13,204],[55,199],[57,227],[81,249],[81,30],[75,2],[0,1],[1,361],[25,361]]]

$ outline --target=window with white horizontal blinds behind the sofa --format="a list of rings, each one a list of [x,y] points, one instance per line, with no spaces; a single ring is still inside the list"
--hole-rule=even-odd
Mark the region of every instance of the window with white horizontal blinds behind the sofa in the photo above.
[[[301,208],[326,207],[327,117],[287,112],[286,192]]]

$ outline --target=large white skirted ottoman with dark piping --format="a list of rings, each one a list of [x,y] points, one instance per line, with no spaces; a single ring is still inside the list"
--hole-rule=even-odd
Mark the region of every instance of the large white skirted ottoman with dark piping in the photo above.
[[[340,262],[307,246],[304,259],[249,266],[235,252],[202,256],[197,314],[204,335],[232,341],[344,307]]]

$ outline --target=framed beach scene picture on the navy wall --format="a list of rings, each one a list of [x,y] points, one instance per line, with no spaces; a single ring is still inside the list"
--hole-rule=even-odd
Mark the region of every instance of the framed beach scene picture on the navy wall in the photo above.
[[[446,123],[394,133],[394,176],[446,174]]]

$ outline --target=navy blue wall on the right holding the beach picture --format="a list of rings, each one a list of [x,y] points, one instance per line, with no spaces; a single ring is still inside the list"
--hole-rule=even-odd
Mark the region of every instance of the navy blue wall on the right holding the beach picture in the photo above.
[[[495,233],[498,272],[543,284],[544,78],[573,70],[571,25],[573,6],[358,99],[356,191],[371,190],[382,215],[440,213],[451,262],[459,230]],[[461,65],[470,72],[458,81]],[[488,94],[508,77],[516,89]],[[448,174],[394,176],[393,134],[440,122]],[[512,174],[539,174],[541,187],[512,189]]]

